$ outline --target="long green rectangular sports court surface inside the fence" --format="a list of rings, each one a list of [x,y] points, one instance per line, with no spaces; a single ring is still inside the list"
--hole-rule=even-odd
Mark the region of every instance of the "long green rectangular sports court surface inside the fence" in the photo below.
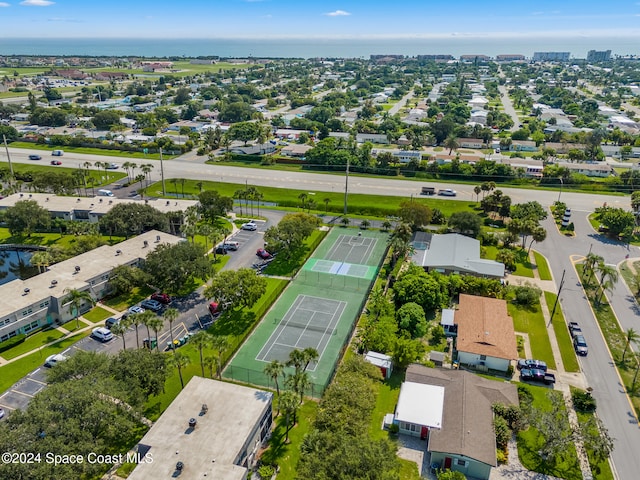
[[[321,396],[364,307],[387,239],[388,234],[377,231],[329,232],[238,350],[224,377],[274,387],[264,367],[273,360],[286,362],[294,349],[312,347],[320,358],[307,368],[307,393]]]

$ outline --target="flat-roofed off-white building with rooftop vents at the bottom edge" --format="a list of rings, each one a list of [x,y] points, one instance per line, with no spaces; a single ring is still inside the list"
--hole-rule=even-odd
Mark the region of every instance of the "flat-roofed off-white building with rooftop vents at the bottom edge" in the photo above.
[[[271,432],[272,400],[270,392],[193,377],[140,440],[138,453],[152,461],[129,480],[246,479]]]

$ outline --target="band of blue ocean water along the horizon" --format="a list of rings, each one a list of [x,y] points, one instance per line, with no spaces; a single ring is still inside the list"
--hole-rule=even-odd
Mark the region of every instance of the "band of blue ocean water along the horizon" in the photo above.
[[[571,52],[585,58],[589,50],[640,55],[640,37],[508,38],[452,35],[404,39],[149,39],[149,38],[0,38],[0,55],[86,55],[142,57],[368,58],[372,54],[460,55]]]

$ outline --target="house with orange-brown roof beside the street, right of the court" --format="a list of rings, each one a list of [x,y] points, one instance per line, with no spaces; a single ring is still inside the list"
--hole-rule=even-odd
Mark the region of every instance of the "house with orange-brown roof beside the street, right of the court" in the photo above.
[[[455,323],[460,364],[506,372],[511,360],[518,358],[513,320],[504,300],[461,294]]]

